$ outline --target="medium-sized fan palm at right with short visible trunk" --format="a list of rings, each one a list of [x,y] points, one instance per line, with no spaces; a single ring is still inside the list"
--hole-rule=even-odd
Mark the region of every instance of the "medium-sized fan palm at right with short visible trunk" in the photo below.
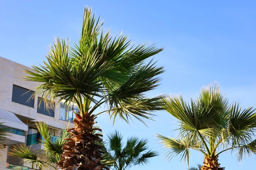
[[[203,88],[190,102],[182,96],[163,100],[166,111],[180,122],[178,139],[157,135],[167,148],[167,158],[180,154],[189,161],[189,149],[194,149],[205,156],[201,170],[223,170],[218,163],[221,153],[237,151],[239,161],[256,153],[255,108],[242,109],[239,103],[230,103],[218,85]]]

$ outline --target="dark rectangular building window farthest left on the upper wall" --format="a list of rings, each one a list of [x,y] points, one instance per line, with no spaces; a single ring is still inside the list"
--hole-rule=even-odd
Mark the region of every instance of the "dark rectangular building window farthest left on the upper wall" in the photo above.
[[[12,102],[19,103],[34,108],[34,99],[32,99],[34,91],[29,91],[17,85],[12,86]]]

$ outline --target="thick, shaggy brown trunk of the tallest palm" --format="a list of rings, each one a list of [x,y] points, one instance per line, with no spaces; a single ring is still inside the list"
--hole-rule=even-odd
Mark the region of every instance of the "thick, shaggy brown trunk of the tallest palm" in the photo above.
[[[61,170],[109,170],[101,164],[104,152],[97,142],[102,142],[102,135],[93,134],[93,130],[101,129],[93,128],[96,122],[87,112],[84,118],[76,114],[75,127],[67,130],[71,138],[63,146],[62,160],[58,163]]]

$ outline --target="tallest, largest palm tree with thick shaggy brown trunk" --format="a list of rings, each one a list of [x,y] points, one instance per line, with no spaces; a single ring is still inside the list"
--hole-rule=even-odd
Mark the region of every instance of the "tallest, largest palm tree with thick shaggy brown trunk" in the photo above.
[[[152,111],[162,109],[163,96],[148,98],[145,93],[158,86],[163,68],[152,60],[145,64],[145,60],[163,49],[131,45],[128,37],[113,37],[110,31],[103,31],[102,25],[91,9],[85,8],[78,44],[70,48],[67,40],[56,38],[47,62],[32,66],[33,71],[26,70],[31,75],[26,80],[41,82],[35,96],[41,96],[44,102],[50,99],[49,107],[61,100],[67,107],[72,101],[78,105],[75,127],[67,130],[71,138],[64,144],[58,163],[63,170],[108,169],[101,164],[104,151],[97,143],[102,142],[102,135],[93,134],[99,114],[108,113],[113,122],[120,117],[129,123],[135,117],[145,123],[143,118],[152,119]],[[108,109],[94,113],[102,105]]]

